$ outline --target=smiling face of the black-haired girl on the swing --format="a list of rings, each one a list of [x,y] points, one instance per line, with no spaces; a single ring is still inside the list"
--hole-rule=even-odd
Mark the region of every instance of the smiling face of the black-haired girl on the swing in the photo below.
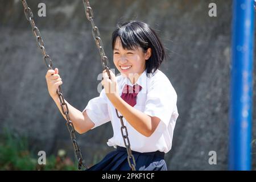
[[[148,48],[146,52],[141,47],[134,49],[123,49],[122,43],[119,37],[115,40],[115,46],[113,50],[113,59],[115,67],[118,71],[126,77],[134,77],[135,75],[141,75],[146,69],[146,61],[151,56],[151,48]],[[131,80],[131,79],[130,79]],[[133,84],[137,79],[131,81]]]

